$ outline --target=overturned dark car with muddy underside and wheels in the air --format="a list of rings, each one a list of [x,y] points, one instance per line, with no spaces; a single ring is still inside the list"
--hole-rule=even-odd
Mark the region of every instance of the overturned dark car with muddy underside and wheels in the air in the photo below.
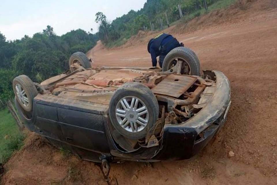
[[[37,84],[13,81],[15,104],[29,130],[94,162],[188,159],[224,125],[230,84],[200,71],[195,53],[173,49],[162,70],[91,68],[84,53],[70,69]]]

